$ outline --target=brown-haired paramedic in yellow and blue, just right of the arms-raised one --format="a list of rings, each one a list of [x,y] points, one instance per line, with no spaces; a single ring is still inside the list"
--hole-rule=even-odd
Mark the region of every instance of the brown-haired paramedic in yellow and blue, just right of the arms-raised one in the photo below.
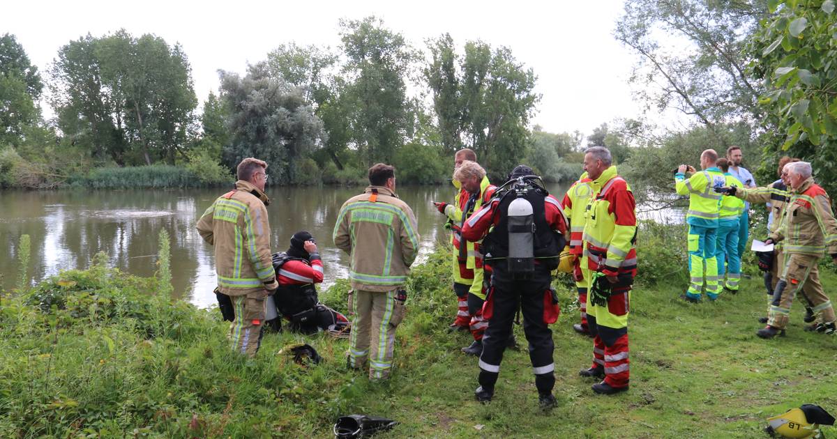
[[[727,186],[743,187],[741,181],[729,173],[730,165],[726,158],[721,157],[716,166],[724,173]],[[742,221],[741,215],[744,210],[744,202],[736,197],[723,197],[721,199],[721,211],[718,218],[718,237],[715,245],[715,259],[718,262],[718,282],[724,283],[724,274],[727,274],[727,281],[724,288],[736,294],[738,282],[741,281],[741,253],[738,253],[738,237]],[[728,273],[727,273],[728,272]]]

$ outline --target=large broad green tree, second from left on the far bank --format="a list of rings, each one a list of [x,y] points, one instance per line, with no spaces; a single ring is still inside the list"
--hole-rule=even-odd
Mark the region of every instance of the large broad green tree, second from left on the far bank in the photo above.
[[[89,34],[59,49],[50,71],[59,127],[119,165],[173,163],[198,104],[182,48],[151,34]]]

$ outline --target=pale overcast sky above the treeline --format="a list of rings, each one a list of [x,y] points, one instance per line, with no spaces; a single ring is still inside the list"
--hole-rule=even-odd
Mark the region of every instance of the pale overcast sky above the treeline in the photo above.
[[[533,124],[552,132],[581,130],[617,117],[636,117],[639,105],[627,79],[634,55],[613,38],[623,0],[575,2],[8,2],[0,33],[13,33],[42,74],[58,49],[86,33],[100,37],[125,28],[179,42],[203,102],[218,90],[218,69],[244,73],[280,43],[336,48],[338,20],[367,15],[424,48],[426,38],[448,32],[461,48],[481,39],[511,48],[537,74],[542,100]]]

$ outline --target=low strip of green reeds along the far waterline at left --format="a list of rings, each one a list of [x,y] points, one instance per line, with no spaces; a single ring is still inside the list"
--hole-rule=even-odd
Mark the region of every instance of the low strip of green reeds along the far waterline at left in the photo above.
[[[95,189],[198,187],[201,182],[198,175],[169,165],[103,167],[90,171],[76,183]]]

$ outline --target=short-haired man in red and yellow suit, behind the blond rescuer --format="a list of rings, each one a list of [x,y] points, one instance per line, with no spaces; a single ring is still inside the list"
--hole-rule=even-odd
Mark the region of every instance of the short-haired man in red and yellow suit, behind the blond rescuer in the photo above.
[[[454,155],[454,171],[459,169],[463,161],[476,162],[475,152],[468,148],[456,151],[456,154]],[[485,177],[484,180],[485,181],[480,181],[480,189],[490,186],[488,178]],[[454,319],[454,322],[449,325],[448,330],[449,332],[454,332],[457,330],[467,331],[470,329],[471,316],[468,312],[468,292],[470,291],[471,285],[475,283],[474,277],[476,275],[474,273],[476,265],[476,252],[473,242],[469,242],[465,246],[460,245],[460,242],[462,242],[462,237],[460,235],[462,232],[462,222],[465,222],[465,218],[467,218],[472,212],[479,210],[483,199],[482,197],[475,199],[473,201],[473,206],[468,209],[468,202],[471,198],[470,194],[464,187],[462,187],[462,183],[460,183],[459,180],[454,178],[451,182],[456,188],[456,195],[454,196],[453,204],[446,202],[434,202],[433,204],[436,209],[439,210],[439,213],[448,218],[448,222],[445,224],[445,227],[449,228],[451,231],[450,243],[453,245],[453,252],[450,255],[450,262],[454,274],[454,294],[456,294],[457,299],[457,311],[456,318]],[[469,210],[470,212],[466,212]]]

